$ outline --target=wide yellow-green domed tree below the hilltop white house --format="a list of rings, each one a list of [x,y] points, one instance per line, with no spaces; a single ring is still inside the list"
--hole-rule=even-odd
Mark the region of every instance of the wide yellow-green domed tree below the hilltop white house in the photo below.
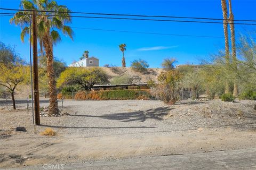
[[[85,69],[83,67],[68,67],[60,74],[57,87],[78,85],[83,90],[92,90],[94,84],[108,82],[108,75],[99,68]]]

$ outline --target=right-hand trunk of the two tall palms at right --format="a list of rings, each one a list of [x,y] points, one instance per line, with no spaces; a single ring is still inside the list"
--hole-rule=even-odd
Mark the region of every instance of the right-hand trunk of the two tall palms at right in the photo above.
[[[234,25],[234,14],[232,12],[231,0],[228,0],[228,4],[229,4],[229,27],[230,27],[230,34],[231,34],[232,66],[234,67],[235,70],[237,70],[235,25]],[[233,96],[237,97],[237,95],[238,95],[238,87],[237,87],[237,83],[234,82]]]

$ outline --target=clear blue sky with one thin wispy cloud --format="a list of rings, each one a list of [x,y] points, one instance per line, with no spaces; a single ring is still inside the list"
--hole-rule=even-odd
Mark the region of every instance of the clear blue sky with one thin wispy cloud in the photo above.
[[[220,0],[214,1],[57,1],[67,5],[71,11],[95,13],[125,13],[145,15],[195,16],[222,18]],[[232,1],[235,19],[256,19],[256,1]],[[19,8],[20,1],[1,0],[0,6]],[[3,11],[1,12],[9,12]],[[6,45],[15,45],[22,58],[29,59],[28,38],[21,43],[18,26],[11,25],[11,16],[0,17],[0,40]],[[73,18],[71,27],[157,32],[180,35],[201,35],[223,37],[222,24],[179,23],[156,21],[129,21],[108,19]],[[255,30],[255,25],[236,25],[236,35]],[[121,66],[122,53],[118,45],[125,43],[126,65],[141,58],[150,67],[161,67],[164,58],[174,57],[178,64],[198,64],[202,58],[217,53],[224,46],[224,38],[198,38],[166,35],[149,35],[128,32],[73,29],[74,41],[62,36],[62,41],[54,46],[54,56],[70,64],[79,60],[84,50],[90,56],[100,59],[100,66],[114,64]]]

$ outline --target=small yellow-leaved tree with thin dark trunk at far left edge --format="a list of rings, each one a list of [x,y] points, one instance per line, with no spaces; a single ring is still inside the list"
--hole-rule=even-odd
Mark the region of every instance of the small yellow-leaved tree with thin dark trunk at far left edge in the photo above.
[[[13,109],[16,109],[14,91],[18,84],[28,80],[28,67],[0,63],[0,85],[6,87],[12,96]]]

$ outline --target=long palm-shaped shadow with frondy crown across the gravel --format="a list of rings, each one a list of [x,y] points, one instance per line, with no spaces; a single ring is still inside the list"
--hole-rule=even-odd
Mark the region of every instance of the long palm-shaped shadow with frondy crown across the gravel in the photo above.
[[[135,112],[124,112],[124,113],[113,113],[113,114],[103,114],[101,116],[97,115],[71,115],[70,116],[84,116],[84,117],[98,117],[107,120],[117,120],[121,122],[132,122],[140,121],[144,122],[147,119],[163,120],[163,116],[170,114],[173,108],[170,107],[158,107],[154,109],[148,109],[146,111],[135,111]]]

